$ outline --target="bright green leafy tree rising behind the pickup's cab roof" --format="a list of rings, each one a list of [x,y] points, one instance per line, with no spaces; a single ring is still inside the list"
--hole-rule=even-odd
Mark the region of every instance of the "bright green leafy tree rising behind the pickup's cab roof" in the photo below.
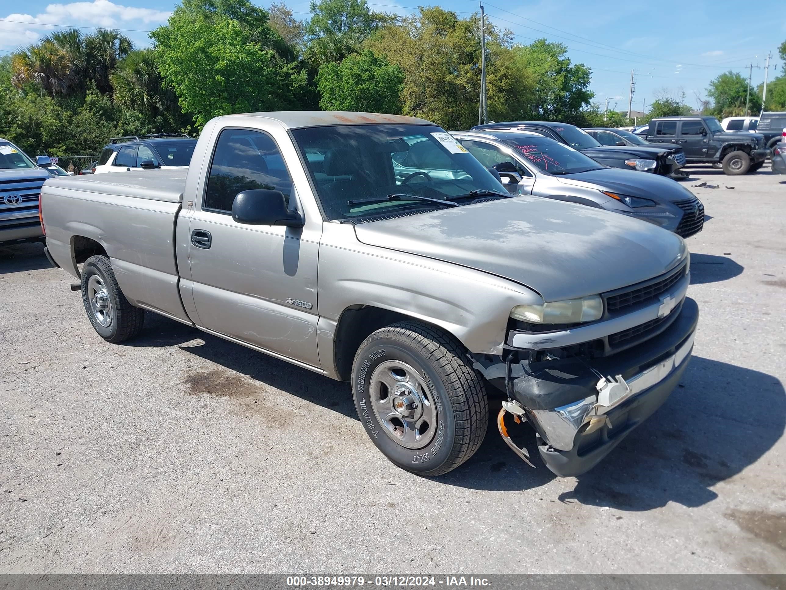
[[[233,112],[298,106],[305,75],[260,41],[280,39],[268,24],[254,29],[222,14],[178,7],[151,36],[164,83],[182,109],[194,113],[197,126]]]

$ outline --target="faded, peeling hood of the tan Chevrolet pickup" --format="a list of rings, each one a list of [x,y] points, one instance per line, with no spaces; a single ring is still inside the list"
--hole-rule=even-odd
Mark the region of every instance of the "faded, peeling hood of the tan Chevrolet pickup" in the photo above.
[[[541,197],[358,223],[354,230],[364,244],[507,278],[545,301],[645,281],[687,256],[682,238],[652,223]]]

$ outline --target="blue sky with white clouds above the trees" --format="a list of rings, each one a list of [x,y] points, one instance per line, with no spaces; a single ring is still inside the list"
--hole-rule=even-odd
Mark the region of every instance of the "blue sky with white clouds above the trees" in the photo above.
[[[85,0],[44,2],[0,0],[0,52],[34,42],[46,31],[44,24],[128,29],[127,35],[145,45],[147,33],[166,21],[175,6],[172,0]],[[369,5],[382,12],[412,13],[419,4],[439,4],[461,15],[478,9],[476,0],[419,2],[374,0]],[[259,2],[270,6],[270,2]],[[296,17],[308,17],[308,1],[292,0]],[[494,0],[484,4],[490,21],[509,28],[517,42],[547,37],[564,42],[573,61],[593,68],[595,101],[609,108],[627,109],[630,70],[634,69],[634,109],[649,104],[659,93],[685,92],[685,102],[696,107],[706,98],[707,83],[728,69],[753,68],[754,86],[764,79],[767,53],[769,78],[784,65],[777,46],[786,40],[786,8],[770,2],[755,10],[740,9],[739,2],[586,2],[586,0]],[[678,6],[678,12],[667,8]],[[9,22],[9,20],[24,22]],[[86,29],[89,31],[90,29]],[[776,66],[777,69],[773,69]],[[698,95],[698,98],[697,98]]]

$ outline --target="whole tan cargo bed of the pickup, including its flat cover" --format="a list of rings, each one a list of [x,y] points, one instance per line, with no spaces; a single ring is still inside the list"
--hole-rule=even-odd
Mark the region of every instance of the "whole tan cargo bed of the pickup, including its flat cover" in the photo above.
[[[139,170],[48,179],[41,210],[50,255],[79,278],[79,263],[105,253],[131,304],[190,323],[175,255],[185,175]],[[189,219],[184,223],[187,230]]]

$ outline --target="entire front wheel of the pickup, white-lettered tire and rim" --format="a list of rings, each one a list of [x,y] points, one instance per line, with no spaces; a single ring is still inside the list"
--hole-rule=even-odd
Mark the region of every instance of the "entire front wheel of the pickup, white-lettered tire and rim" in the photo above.
[[[483,380],[442,330],[402,322],[363,341],[352,396],[366,433],[395,465],[437,476],[472,457],[488,426]]]

